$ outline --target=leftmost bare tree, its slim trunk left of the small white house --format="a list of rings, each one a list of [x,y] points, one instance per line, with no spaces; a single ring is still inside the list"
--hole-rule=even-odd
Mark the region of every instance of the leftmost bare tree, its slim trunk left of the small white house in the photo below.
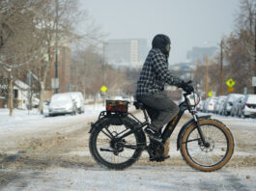
[[[8,79],[8,106],[13,115],[13,89],[16,74],[24,66],[23,51],[31,37],[33,20],[28,9],[35,1],[0,1],[0,68]]]

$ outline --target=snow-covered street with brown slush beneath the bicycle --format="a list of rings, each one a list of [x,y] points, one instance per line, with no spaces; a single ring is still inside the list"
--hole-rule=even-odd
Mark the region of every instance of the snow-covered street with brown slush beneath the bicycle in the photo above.
[[[148,162],[145,152],[131,168],[109,171],[92,159],[88,149],[88,123],[101,109],[88,106],[85,115],[55,118],[20,112],[11,119],[0,111],[0,190],[256,190],[252,127],[237,128],[234,120],[223,120],[230,121],[236,148],[231,162],[213,173],[191,169],[176,150],[177,133],[188,117],[174,131],[170,159]],[[136,116],[142,118],[140,113]],[[254,125],[248,119],[236,123]]]

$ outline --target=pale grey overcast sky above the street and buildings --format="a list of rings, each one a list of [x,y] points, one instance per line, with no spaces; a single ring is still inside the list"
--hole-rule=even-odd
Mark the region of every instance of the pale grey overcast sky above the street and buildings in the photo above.
[[[172,41],[169,63],[185,62],[193,46],[217,46],[234,31],[240,0],[80,0],[108,39]]]

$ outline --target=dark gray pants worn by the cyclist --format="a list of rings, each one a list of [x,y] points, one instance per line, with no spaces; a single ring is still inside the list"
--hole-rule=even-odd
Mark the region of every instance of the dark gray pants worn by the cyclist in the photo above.
[[[152,128],[160,130],[165,123],[169,123],[179,112],[179,107],[164,93],[154,95],[140,95],[138,101],[147,105],[147,112],[152,121]]]

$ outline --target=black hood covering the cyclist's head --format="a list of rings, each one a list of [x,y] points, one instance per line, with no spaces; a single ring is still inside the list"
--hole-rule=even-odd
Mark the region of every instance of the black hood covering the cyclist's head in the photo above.
[[[158,34],[155,36],[155,38],[152,41],[152,47],[153,48],[159,48],[161,52],[166,55],[167,57],[169,56],[169,45],[171,44],[171,41],[169,37],[166,35]]]

